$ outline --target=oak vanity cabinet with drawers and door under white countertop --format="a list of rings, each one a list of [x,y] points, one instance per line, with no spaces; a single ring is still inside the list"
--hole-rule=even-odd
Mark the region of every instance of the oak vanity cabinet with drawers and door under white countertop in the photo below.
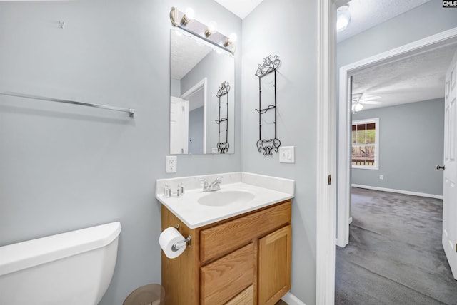
[[[291,287],[291,200],[190,229],[164,205],[162,229],[176,227],[190,247],[162,253],[166,305],[275,304]]]

